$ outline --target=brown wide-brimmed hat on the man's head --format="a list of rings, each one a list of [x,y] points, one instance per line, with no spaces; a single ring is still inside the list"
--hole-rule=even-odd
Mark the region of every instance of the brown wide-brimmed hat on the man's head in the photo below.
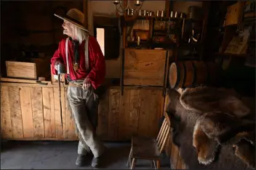
[[[84,14],[83,12],[79,11],[79,9],[74,9],[74,8],[69,9],[69,11],[67,12],[67,14],[65,14],[65,16],[61,16],[59,14],[55,14],[55,16],[59,17],[62,20],[71,22],[76,27],[79,27],[82,30],[89,32],[89,30],[87,30],[84,27]]]

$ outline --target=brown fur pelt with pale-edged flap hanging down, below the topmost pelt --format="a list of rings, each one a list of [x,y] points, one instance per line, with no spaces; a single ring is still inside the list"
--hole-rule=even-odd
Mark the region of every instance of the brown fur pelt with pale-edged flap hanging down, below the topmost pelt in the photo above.
[[[254,145],[255,135],[253,131],[248,131],[253,130],[253,126],[254,122],[244,121],[233,114],[211,112],[200,116],[193,129],[193,146],[197,150],[199,163],[212,163],[220,145],[239,143],[242,139]],[[250,153],[254,152],[251,150]],[[243,157],[243,161],[249,159],[246,155]]]

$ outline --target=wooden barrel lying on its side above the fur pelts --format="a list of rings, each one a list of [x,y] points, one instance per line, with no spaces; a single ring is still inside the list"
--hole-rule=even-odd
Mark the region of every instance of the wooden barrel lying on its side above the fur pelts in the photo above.
[[[169,67],[170,88],[188,88],[214,85],[220,72],[214,62],[177,61]]]

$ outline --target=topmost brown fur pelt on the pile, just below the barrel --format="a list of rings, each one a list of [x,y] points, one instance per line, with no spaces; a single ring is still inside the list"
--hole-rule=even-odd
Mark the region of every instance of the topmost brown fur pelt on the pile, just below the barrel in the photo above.
[[[199,113],[223,111],[243,117],[250,112],[238,93],[225,88],[186,88],[180,95],[180,103],[185,109]]]

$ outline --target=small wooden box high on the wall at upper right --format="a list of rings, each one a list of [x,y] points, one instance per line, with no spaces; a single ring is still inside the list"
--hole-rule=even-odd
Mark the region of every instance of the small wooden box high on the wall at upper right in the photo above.
[[[243,7],[244,1],[238,1],[236,4],[228,7],[225,26],[239,24],[243,13]]]

